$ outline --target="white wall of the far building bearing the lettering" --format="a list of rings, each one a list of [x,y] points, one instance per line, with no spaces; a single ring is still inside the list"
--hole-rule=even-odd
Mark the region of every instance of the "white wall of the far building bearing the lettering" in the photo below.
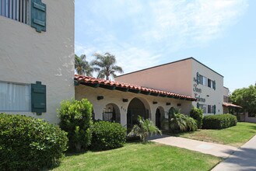
[[[198,61],[192,61],[192,77],[191,80],[196,79],[197,72],[200,75],[205,76],[207,79],[215,80],[216,81],[216,90],[209,88],[208,86],[203,86],[199,84],[197,87],[198,89],[202,89],[202,92],[195,92],[193,91],[194,85],[196,82],[192,82],[191,89],[193,91],[193,96],[195,97],[195,93],[198,94],[201,98],[205,99],[205,103],[199,102],[200,104],[206,105],[216,105],[216,114],[223,113],[223,76],[213,72],[211,69],[205,67],[204,65],[198,63]],[[194,106],[197,106],[198,102],[193,102]],[[208,115],[209,113],[205,113]],[[212,113],[211,113],[212,114]]]

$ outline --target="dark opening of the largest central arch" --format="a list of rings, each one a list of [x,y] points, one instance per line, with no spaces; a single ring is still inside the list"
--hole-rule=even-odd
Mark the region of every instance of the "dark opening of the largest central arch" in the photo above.
[[[133,125],[138,124],[138,117],[141,116],[144,119],[149,118],[149,110],[146,109],[144,103],[138,99],[134,98],[129,103],[128,113],[127,113],[127,128],[132,128]]]

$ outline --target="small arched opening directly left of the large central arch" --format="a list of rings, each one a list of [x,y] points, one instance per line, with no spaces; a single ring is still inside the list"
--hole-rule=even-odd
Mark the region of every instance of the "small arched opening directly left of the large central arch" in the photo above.
[[[103,109],[103,120],[120,124],[121,116],[118,106],[114,103],[107,104]]]

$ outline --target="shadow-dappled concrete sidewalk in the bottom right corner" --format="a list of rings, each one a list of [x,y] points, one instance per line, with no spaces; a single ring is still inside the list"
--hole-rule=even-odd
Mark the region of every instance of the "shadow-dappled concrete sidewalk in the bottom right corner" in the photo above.
[[[220,162],[212,171],[256,170],[256,135],[237,149],[233,155]]]

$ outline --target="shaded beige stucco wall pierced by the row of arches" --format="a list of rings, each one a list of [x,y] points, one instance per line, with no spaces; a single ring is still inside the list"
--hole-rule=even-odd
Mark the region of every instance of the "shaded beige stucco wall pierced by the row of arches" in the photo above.
[[[101,100],[97,99],[97,96],[103,96]],[[149,117],[153,122],[156,122],[156,109],[157,107],[163,107],[164,113],[168,113],[170,107],[181,108],[181,112],[188,114],[191,111],[191,102],[180,100],[180,99],[170,99],[157,96],[147,96],[143,94],[137,94],[132,92],[121,92],[118,90],[108,90],[103,88],[92,88],[89,86],[75,86],[75,99],[89,99],[93,104],[93,110],[95,113],[95,119],[103,119],[103,109],[109,103],[114,103],[119,107],[121,113],[121,124],[126,126],[127,124],[127,110],[128,105],[134,98],[139,98],[145,105],[146,109],[149,110]],[[128,99],[128,102],[124,103],[122,99]],[[153,101],[158,102],[153,104]],[[167,106],[167,103],[171,103],[170,106]],[[181,103],[181,106],[177,106],[178,103]],[[167,117],[167,116],[166,116]]]

